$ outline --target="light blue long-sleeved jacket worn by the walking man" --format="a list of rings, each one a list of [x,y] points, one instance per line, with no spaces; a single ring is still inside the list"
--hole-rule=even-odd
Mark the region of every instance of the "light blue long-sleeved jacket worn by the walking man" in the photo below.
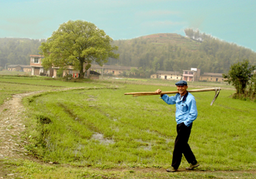
[[[191,93],[187,92],[180,99],[180,94],[175,96],[163,95],[161,99],[167,104],[176,104],[176,122],[177,124],[184,122],[186,126],[190,126],[197,117],[196,100]]]

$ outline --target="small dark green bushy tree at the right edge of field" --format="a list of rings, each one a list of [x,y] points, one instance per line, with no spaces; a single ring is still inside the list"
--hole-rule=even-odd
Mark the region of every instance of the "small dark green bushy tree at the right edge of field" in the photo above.
[[[249,61],[243,60],[242,62],[234,63],[228,72],[228,74],[222,74],[225,78],[225,82],[231,83],[236,88],[238,95],[245,94],[246,86],[249,84],[249,80],[253,76],[255,70],[254,65],[250,65]]]

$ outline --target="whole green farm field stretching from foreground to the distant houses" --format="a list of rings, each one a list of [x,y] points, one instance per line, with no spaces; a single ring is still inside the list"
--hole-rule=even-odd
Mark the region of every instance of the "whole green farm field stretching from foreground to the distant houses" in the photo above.
[[[188,90],[222,90],[212,106],[214,92],[193,93],[199,116],[189,144],[200,167],[185,171],[183,159],[177,173],[165,172],[176,137],[175,105],[159,96],[124,95],[175,91],[174,82],[109,78],[75,83],[0,76],[0,85],[2,104],[14,94],[41,91],[22,100],[24,148],[36,160],[0,159],[16,178],[255,177],[256,103],[230,98],[235,91],[226,84],[188,83]]]

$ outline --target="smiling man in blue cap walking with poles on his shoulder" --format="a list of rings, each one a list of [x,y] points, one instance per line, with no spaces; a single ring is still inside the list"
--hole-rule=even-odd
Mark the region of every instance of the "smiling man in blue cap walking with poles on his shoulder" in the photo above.
[[[192,170],[199,166],[199,163],[188,144],[192,124],[197,117],[196,100],[195,97],[187,91],[187,82],[181,80],[175,83],[175,85],[177,87],[177,94],[175,96],[169,97],[168,95],[161,95],[162,91],[160,89],[155,91],[155,93],[161,95],[161,99],[163,99],[167,104],[176,104],[175,117],[177,122],[177,137],[175,139],[174,152],[172,155],[172,167],[166,169],[167,172],[177,171],[181,162],[182,154],[190,164],[186,169]]]

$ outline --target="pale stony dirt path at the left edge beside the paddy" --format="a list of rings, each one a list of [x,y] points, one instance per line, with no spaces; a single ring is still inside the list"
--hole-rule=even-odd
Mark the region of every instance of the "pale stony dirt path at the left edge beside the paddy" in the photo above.
[[[14,95],[0,106],[0,159],[10,157],[24,157],[26,150],[22,147],[26,141],[20,138],[20,133],[25,130],[23,123],[24,106],[22,97],[39,92],[30,92]]]

